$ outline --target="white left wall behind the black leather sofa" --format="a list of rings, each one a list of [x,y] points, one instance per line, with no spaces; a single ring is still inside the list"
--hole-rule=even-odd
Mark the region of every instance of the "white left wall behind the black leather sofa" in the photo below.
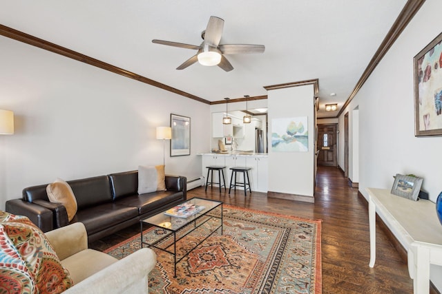
[[[0,209],[21,190],[162,164],[155,127],[191,117],[191,156],[169,157],[166,174],[200,174],[209,149],[209,105],[0,36],[0,109],[15,134],[0,136]]]

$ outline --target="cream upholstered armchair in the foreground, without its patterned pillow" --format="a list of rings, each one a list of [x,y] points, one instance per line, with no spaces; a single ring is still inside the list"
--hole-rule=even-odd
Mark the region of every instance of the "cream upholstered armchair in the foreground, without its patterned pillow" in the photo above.
[[[148,273],[157,257],[144,248],[122,260],[88,249],[88,235],[81,222],[46,233],[74,286],[64,293],[148,293]]]

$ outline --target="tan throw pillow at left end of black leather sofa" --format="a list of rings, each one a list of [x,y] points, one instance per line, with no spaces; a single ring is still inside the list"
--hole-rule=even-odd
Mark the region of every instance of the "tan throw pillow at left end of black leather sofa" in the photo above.
[[[52,184],[46,186],[46,193],[50,202],[61,203],[66,207],[68,220],[71,221],[77,213],[77,199],[69,184],[57,178]]]

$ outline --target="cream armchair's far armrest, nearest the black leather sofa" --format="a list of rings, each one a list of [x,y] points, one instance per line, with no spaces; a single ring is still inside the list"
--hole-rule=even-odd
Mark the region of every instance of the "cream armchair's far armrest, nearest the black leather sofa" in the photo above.
[[[88,234],[82,222],[75,222],[46,233],[60,260],[88,249]]]

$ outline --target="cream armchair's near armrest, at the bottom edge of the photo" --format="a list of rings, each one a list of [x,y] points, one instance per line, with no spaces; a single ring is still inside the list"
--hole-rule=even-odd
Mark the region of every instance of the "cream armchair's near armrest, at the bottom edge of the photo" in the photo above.
[[[148,273],[155,267],[156,261],[152,249],[140,249],[68,288],[64,293],[148,293]]]

